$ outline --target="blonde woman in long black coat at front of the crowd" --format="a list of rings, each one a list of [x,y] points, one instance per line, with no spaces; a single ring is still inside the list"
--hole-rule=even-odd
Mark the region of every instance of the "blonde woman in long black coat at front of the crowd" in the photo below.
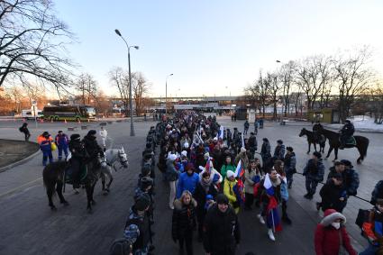
[[[196,200],[188,190],[185,190],[179,199],[174,201],[171,220],[171,235],[174,242],[178,241],[178,254],[184,254],[185,245],[187,255],[193,255],[193,231],[195,227]]]

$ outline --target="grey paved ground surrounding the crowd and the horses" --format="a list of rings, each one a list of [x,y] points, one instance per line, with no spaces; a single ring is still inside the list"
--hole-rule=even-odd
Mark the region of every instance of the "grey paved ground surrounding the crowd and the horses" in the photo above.
[[[218,117],[218,122],[223,126],[243,128],[243,121],[232,123],[227,117]],[[19,139],[23,136],[17,128],[21,123],[12,121],[0,122],[0,138]],[[32,141],[42,131],[55,134],[63,130],[70,135],[67,127],[72,123],[39,123],[38,129],[30,124]],[[74,123],[73,123],[74,124]],[[106,129],[110,136],[108,147],[124,147],[127,151],[130,167],[114,173],[114,183],[111,193],[104,196],[101,185],[97,184],[94,214],[87,214],[87,199],[85,192],[79,195],[67,186],[64,194],[69,206],[59,205],[56,197],[57,212],[51,212],[48,199],[41,180],[41,155],[37,155],[19,165],[0,173],[0,254],[108,254],[108,249],[115,238],[121,237],[129,207],[132,205],[132,195],[137,184],[140,172],[141,151],[144,149],[146,133],[153,122],[137,122],[135,124],[136,136],[130,137],[129,123],[108,124]],[[87,133],[90,128],[97,128],[99,123],[89,123],[87,130],[78,132]],[[282,139],[287,146],[292,146],[296,151],[297,170],[302,171],[305,162],[309,159],[306,155],[307,143],[305,138],[297,134],[302,126],[310,127],[309,123],[287,123],[280,126],[278,123],[265,123],[265,128],[259,131],[258,141],[268,137],[275,147],[276,141]],[[252,126],[251,126],[252,129]],[[380,160],[380,148],[383,141],[382,134],[362,133],[369,138],[368,156],[361,165],[356,165],[358,152],[356,149],[340,150],[340,159],[350,159],[360,174],[360,188],[358,196],[369,199],[372,188],[382,178],[383,163]],[[326,150],[328,147],[326,147]],[[57,155],[55,155],[57,158]],[[333,155],[324,160],[326,173],[332,165]],[[178,246],[171,241],[171,210],[168,207],[169,187],[161,181],[160,173],[156,178],[155,196],[155,225],[154,254],[177,254]],[[318,190],[321,186],[318,187]],[[315,209],[315,195],[312,201],[303,198],[305,194],[304,178],[295,175],[295,182],[290,191],[288,209],[293,224],[284,225],[283,231],[276,234],[277,241],[269,241],[267,230],[260,225],[254,211],[242,211],[239,214],[241,223],[242,241],[237,254],[253,251],[256,254],[314,254],[315,225],[321,219],[322,213]],[[367,245],[360,236],[360,230],[354,221],[359,208],[369,208],[370,205],[360,199],[351,197],[344,210],[348,223],[346,224],[351,234],[352,243],[356,250],[361,250]],[[195,254],[205,254],[202,244],[195,238]]]

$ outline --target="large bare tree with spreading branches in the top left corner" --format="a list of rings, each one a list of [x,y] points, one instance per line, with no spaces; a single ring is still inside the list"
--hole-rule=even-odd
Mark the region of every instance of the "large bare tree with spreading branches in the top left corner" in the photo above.
[[[0,87],[31,77],[67,85],[73,63],[65,57],[65,45],[73,38],[50,0],[0,1]]]

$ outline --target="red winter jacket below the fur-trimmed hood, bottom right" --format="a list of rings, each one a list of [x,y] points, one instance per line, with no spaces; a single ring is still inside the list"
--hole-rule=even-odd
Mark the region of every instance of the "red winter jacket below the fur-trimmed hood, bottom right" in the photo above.
[[[331,216],[331,215],[330,215]],[[341,240],[342,238],[342,240]],[[349,234],[344,226],[339,230],[333,228],[331,223],[319,223],[315,230],[315,253],[316,255],[339,254],[341,243],[350,255],[357,255],[352,248]]]

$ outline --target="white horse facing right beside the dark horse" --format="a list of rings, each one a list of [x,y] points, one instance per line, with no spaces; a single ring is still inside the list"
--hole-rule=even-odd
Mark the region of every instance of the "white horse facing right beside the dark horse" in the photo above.
[[[120,167],[118,169],[128,168],[129,166],[129,162],[123,147],[121,149],[105,150],[105,157],[101,159],[101,180],[103,183],[103,191],[105,195],[109,193],[109,187],[113,182],[112,168],[114,168],[114,171],[117,171],[116,163],[120,163]],[[109,183],[105,188],[106,178],[109,179]]]

